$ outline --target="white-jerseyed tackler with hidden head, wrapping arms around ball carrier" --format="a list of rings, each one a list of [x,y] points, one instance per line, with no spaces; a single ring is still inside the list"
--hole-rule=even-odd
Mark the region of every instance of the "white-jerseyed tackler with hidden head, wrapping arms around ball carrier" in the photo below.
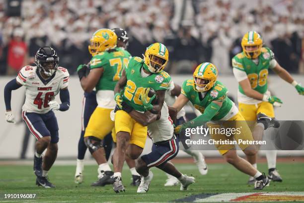
[[[149,91],[150,88],[148,88],[147,92]],[[156,103],[157,97],[152,98],[152,100],[152,104]],[[122,106],[122,109],[128,112],[137,122],[144,126],[148,125],[148,136],[153,141],[152,152],[136,160],[136,171],[142,177],[137,193],[148,192],[153,178],[152,171],[149,170],[151,167],[159,168],[177,178],[181,183],[180,190],[187,190],[188,186],[194,183],[195,178],[180,173],[171,162],[168,162],[178,153],[179,137],[174,134],[173,120],[169,115],[167,104],[164,102],[158,114],[153,114],[150,111],[141,113],[128,106],[125,102],[122,102]],[[174,113],[176,114],[176,111]]]

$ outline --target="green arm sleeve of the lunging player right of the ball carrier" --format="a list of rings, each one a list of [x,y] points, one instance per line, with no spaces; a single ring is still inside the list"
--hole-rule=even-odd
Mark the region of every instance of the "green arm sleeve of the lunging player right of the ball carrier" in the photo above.
[[[204,113],[197,118],[190,120],[185,123],[186,127],[196,127],[205,124],[210,121],[216,113],[220,110],[221,106],[218,104],[211,102],[205,109]]]

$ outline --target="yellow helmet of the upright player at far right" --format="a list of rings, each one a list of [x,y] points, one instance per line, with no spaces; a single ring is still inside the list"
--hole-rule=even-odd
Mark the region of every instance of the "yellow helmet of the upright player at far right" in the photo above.
[[[243,53],[249,59],[257,58],[261,54],[261,48],[263,46],[262,37],[256,31],[247,32],[241,42]],[[257,49],[253,51],[246,50],[246,46],[257,46]]]

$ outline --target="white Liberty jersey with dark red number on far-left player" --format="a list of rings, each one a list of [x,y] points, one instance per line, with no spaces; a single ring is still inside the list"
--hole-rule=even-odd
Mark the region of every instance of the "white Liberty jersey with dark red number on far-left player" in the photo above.
[[[25,86],[26,98],[22,110],[47,113],[51,110],[48,103],[55,99],[61,89],[68,87],[69,72],[63,67],[58,67],[49,80],[43,80],[36,66],[25,66],[18,73],[16,80]]]

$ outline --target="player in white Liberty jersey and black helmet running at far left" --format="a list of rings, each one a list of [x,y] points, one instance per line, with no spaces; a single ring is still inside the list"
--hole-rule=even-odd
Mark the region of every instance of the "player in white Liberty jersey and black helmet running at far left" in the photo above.
[[[58,62],[59,57],[52,47],[42,47],[35,55],[36,66],[23,67],[16,79],[9,81],[4,88],[6,121],[14,123],[10,106],[11,91],[25,87],[22,118],[37,139],[34,173],[37,177],[36,185],[44,188],[55,188],[47,176],[58,151],[58,123],[54,110],[66,111],[70,107],[69,72],[58,67]],[[58,93],[62,102],[60,104],[55,101]],[[42,157],[45,149],[47,150]]]

